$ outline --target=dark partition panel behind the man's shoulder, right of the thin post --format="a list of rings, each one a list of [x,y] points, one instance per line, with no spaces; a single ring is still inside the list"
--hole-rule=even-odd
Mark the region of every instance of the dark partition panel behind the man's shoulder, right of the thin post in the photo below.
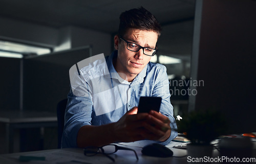
[[[24,60],[23,110],[56,110],[70,89],[69,69],[90,57],[90,46],[26,58]]]

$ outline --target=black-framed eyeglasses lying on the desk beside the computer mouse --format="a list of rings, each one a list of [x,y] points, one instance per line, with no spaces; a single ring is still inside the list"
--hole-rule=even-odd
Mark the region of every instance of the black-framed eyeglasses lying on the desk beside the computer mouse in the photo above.
[[[125,147],[120,147],[120,146],[117,146],[117,145],[114,145],[114,144],[105,145],[105,146],[102,146],[102,147],[95,147],[95,146],[85,147],[83,149],[83,153],[86,156],[94,156],[98,153],[102,153],[105,156],[109,157],[114,162],[115,159],[113,157],[111,157],[109,154],[113,154],[113,153],[117,152],[118,150],[131,150],[135,153],[136,159],[137,160],[139,159],[135,150],[130,149],[130,148],[125,148]]]

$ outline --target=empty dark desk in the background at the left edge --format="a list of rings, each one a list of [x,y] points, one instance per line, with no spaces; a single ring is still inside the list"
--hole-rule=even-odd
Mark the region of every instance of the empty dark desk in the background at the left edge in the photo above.
[[[57,116],[45,111],[0,111],[0,123],[6,127],[6,150],[12,153],[14,129],[57,127]]]

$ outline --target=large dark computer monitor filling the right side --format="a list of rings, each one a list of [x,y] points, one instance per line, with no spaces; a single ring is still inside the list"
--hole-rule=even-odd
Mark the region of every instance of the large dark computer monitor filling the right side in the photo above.
[[[253,4],[253,1],[197,1],[196,4],[190,88],[196,89],[196,94],[189,96],[188,110],[221,111],[227,121],[227,134],[256,132]],[[195,84],[200,80],[203,86]]]

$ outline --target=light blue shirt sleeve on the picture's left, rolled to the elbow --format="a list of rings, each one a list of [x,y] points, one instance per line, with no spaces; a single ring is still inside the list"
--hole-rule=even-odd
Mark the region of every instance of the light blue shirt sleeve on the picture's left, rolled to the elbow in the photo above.
[[[91,125],[93,102],[88,80],[78,75],[77,70],[71,77],[71,89],[65,111],[65,124],[61,139],[61,148],[77,147],[77,133],[84,125]]]

